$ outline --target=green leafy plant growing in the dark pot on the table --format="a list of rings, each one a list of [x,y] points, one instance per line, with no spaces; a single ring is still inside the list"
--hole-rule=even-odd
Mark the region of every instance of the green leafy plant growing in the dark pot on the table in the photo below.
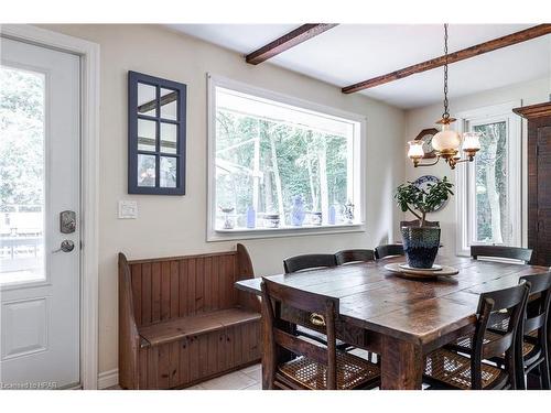
[[[420,227],[423,227],[426,214],[434,211],[439,205],[446,202],[450,195],[453,195],[452,188],[453,184],[447,181],[446,176],[436,184],[429,184],[426,189],[408,181],[407,184],[398,186],[395,198],[402,211],[409,210],[419,218]]]

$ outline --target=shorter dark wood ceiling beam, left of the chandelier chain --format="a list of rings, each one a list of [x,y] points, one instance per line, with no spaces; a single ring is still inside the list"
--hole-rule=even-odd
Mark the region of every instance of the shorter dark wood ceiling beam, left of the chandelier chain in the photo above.
[[[327,30],[333,29],[336,25],[337,24],[333,23],[303,24],[292,32],[289,32],[285,35],[282,35],[281,37],[274,40],[273,42],[268,43],[266,46],[262,46],[259,50],[248,54],[245,59],[251,65],[258,65],[259,63],[262,63],[280,54],[281,52],[288,51],[289,48],[294,47],[302,42],[315,37],[316,35],[322,34],[323,32],[326,32]]]

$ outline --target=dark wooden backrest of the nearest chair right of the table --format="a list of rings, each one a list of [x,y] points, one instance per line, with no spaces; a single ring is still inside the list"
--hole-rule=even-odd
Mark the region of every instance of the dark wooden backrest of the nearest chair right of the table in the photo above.
[[[480,294],[477,309],[476,329],[473,339],[473,355],[471,358],[471,382],[473,389],[483,389],[482,360],[501,357],[505,354],[505,366],[508,372],[507,388],[515,389],[515,346],[517,330],[521,325],[530,284],[523,282],[509,289],[491,291]],[[503,319],[504,314],[509,317],[507,330],[497,339],[485,343],[488,326],[496,318]]]

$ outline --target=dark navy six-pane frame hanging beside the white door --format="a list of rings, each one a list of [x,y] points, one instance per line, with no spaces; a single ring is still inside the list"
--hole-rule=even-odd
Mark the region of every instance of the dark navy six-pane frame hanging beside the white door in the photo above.
[[[156,115],[139,115],[138,85],[149,85],[156,90]],[[177,119],[166,119],[161,116],[160,90],[162,88],[177,91]],[[138,72],[128,72],[128,193],[142,195],[185,195],[185,163],[186,163],[186,119],[187,112],[187,86],[185,84],[163,79],[161,77],[145,75]],[[138,149],[138,121],[140,119],[153,121],[155,127],[155,150],[143,151]],[[176,127],[176,153],[163,152],[161,149],[161,124],[170,123]],[[155,185],[138,185],[138,155],[151,155],[155,157]],[[176,186],[160,186],[161,157],[173,157],[176,160]]]

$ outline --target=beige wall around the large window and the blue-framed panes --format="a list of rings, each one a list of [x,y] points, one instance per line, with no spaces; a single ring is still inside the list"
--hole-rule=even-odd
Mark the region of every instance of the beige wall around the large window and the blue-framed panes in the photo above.
[[[117,262],[119,251],[145,258],[227,250],[206,240],[206,73],[367,117],[367,231],[247,240],[255,271],[282,271],[288,256],[374,247],[392,238],[401,213],[392,191],[402,181],[404,113],[270,64],[247,65],[237,53],[154,25],[46,25],[99,43],[101,48],[99,371],[117,368]],[[187,194],[127,194],[127,72],[187,84]],[[399,154],[397,156],[397,154]],[[138,202],[139,218],[117,219],[119,199]],[[389,233],[390,232],[390,233]]]

